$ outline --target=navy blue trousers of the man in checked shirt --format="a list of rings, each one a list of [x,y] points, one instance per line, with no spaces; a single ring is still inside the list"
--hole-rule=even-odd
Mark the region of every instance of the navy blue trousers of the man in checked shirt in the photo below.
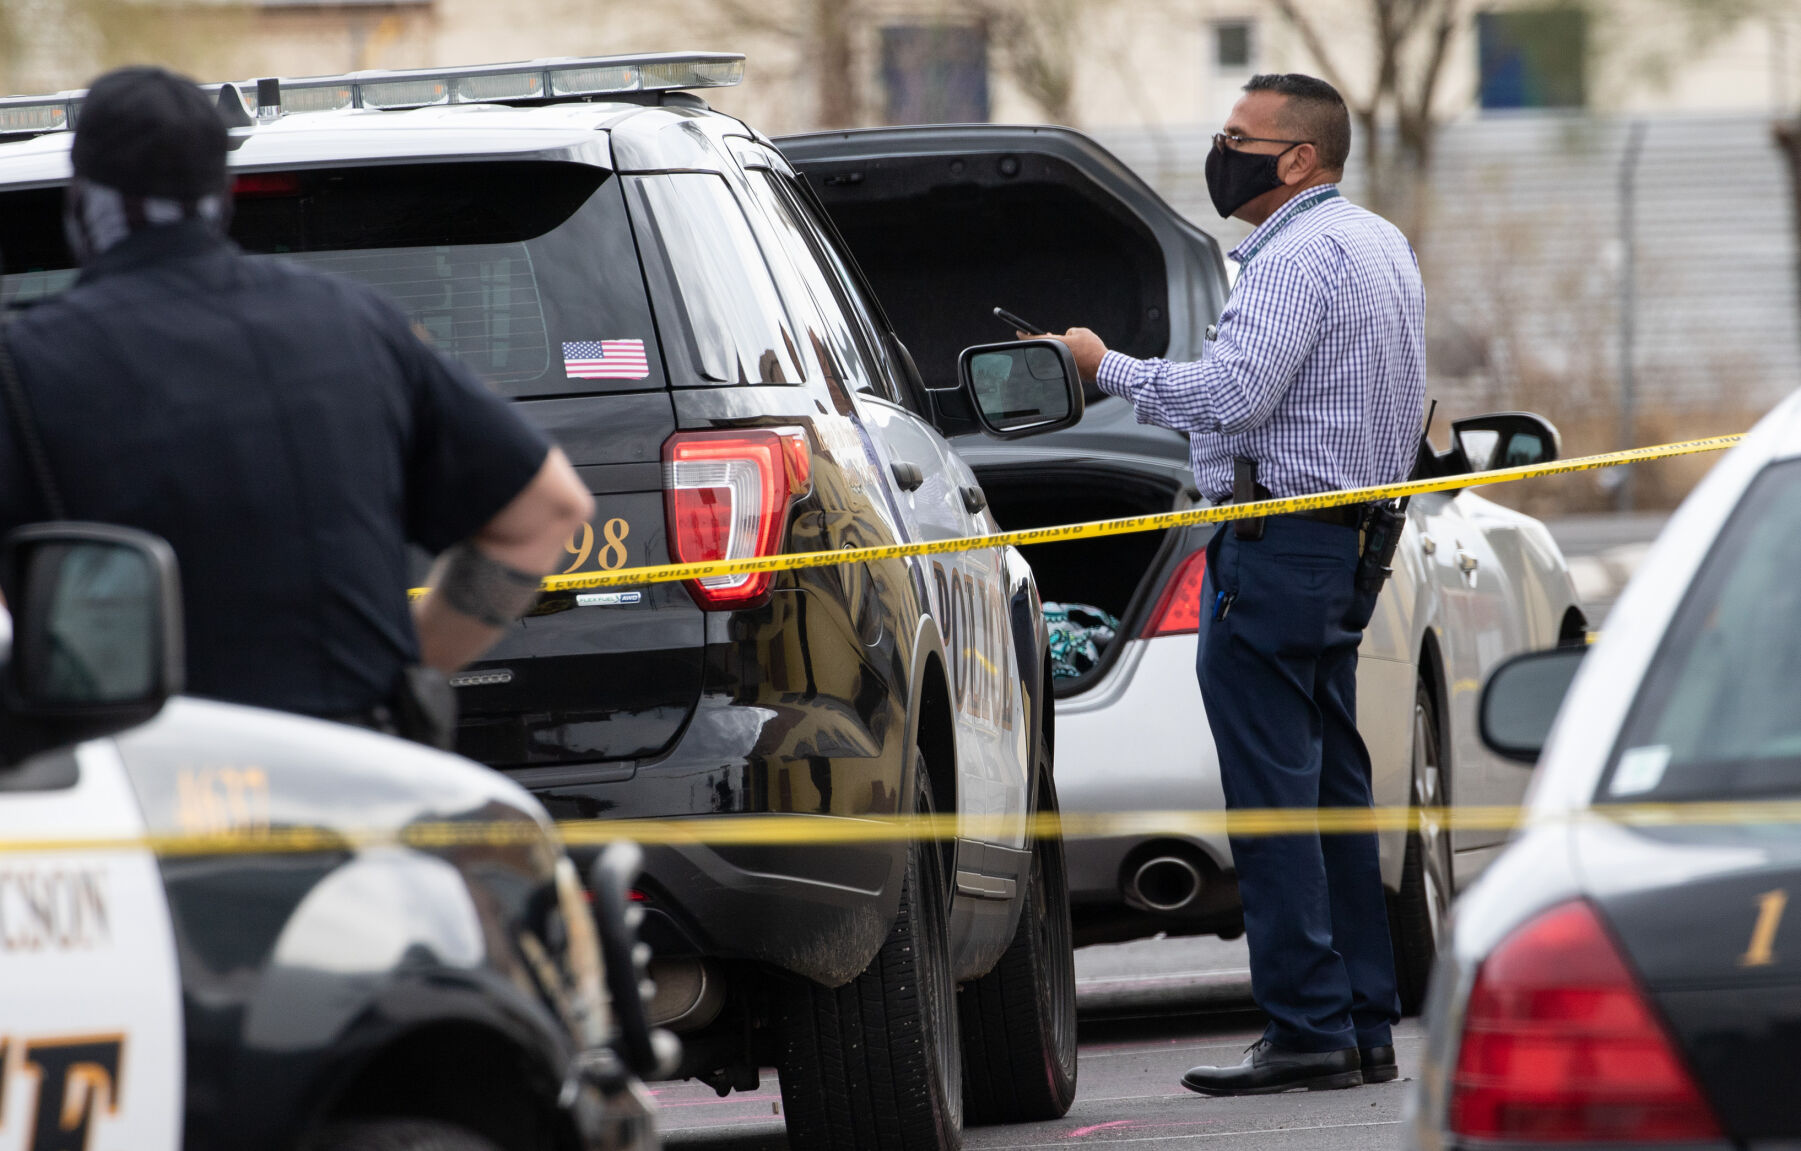
[[[1369,807],[1356,648],[1374,602],[1358,533],[1270,517],[1207,546],[1196,672],[1226,809]],[[1401,1018],[1376,836],[1232,836],[1264,1036],[1291,1050],[1390,1043]]]

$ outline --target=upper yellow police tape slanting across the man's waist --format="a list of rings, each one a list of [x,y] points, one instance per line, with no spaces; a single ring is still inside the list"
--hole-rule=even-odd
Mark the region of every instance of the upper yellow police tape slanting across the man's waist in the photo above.
[[[1491,472],[1466,472],[1441,479],[1412,479],[1372,488],[1347,488],[1344,492],[1320,492],[1317,495],[1293,495],[1288,499],[1261,499],[1243,504],[1219,504],[1214,508],[1192,508],[1189,512],[1162,512],[1158,515],[1127,515],[1124,519],[1100,519],[1086,524],[1063,524],[1057,528],[1027,528],[1023,531],[996,531],[994,535],[964,535],[942,540],[919,540],[911,544],[884,544],[879,548],[845,548],[841,551],[796,551],[787,555],[762,555],[742,560],[706,560],[699,564],[650,564],[645,567],[620,567],[616,571],[593,571],[582,575],[546,576],[544,591],[593,591],[596,587],[636,587],[643,584],[668,584],[672,580],[704,580],[711,576],[749,575],[756,571],[796,571],[801,567],[830,567],[836,564],[870,564],[875,560],[899,560],[915,555],[946,555],[951,551],[973,551],[976,548],[1010,548],[1021,544],[1054,544],[1061,540],[1086,540],[1104,535],[1129,535],[1135,531],[1162,531],[1163,528],[1181,528],[1187,524],[1217,524],[1232,519],[1255,519],[1259,515],[1282,515],[1288,512],[1306,512],[1311,508],[1335,508],[1340,504],[1367,504],[1380,499],[1401,499],[1405,495],[1426,495],[1430,492],[1455,492],[1461,488],[1480,488],[1540,476],[1569,476],[1572,472],[1594,472],[1623,463],[1646,463],[1652,459],[1671,459],[1675,456],[1698,456],[1702,452],[1720,452],[1743,436],[1709,436],[1707,440],[1684,440],[1657,447],[1628,449],[1625,452],[1603,452],[1599,456],[1578,456],[1558,463],[1534,463],[1518,468],[1495,468]],[[425,587],[411,589],[412,598],[427,593]]]

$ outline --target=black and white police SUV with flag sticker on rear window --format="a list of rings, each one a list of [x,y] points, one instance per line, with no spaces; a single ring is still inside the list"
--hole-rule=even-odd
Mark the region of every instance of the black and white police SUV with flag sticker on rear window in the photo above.
[[[742,68],[222,85],[232,234],[385,290],[562,445],[598,503],[566,573],[994,531],[946,436],[1073,423],[1073,362],[998,344],[928,391],[807,186],[693,95]],[[0,146],[16,301],[72,277],[76,115],[0,101],[40,133]],[[814,820],[828,841],[647,848],[652,1018],[720,1092],[776,1066],[794,1146],[949,1147],[1075,1092],[1061,843],[1028,836],[1046,647],[1012,549],[546,594],[457,679],[459,749],[560,820]],[[960,834],[846,841],[915,812]]]

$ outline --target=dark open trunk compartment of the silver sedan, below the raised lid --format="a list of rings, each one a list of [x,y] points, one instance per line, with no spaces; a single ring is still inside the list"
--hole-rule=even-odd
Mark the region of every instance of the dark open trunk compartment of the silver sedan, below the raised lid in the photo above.
[[[989,508],[1001,530],[1154,515],[1194,506],[1194,494],[1174,476],[1140,474],[1100,461],[976,467]],[[1118,659],[1156,605],[1167,573],[1183,551],[1187,530],[1135,531],[1088,540],[1021,548],[1037,578],[1039,596],[1070,611],[1075,623],[1090,621],[1077,607],[1095,607],[1118,620],[1111,639],[1097,639],[1093,663],[1064,663],[1054,679],[1057,699],[1095,686]],[[1055,616],[1054,609],[1048,609]],[[1077,659],[1086,665],[1086,659]],[[1079,670],[1072,675],[1070,670]]]

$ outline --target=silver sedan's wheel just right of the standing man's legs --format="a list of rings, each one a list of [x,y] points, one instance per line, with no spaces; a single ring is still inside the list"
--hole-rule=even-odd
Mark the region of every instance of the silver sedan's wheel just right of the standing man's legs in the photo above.
[[[1414,807],[1444,807],[1444,755],[1439,710],[1432,690],[1414,688]],[[1450,829],[1407,832],[1401,890],[1389,895],[1389,938],[1394,944],[1394,982],[1401,1014],[1417,1016],[1426,1003],[1426,982],[1437,962],[1439,938],[1452,902]]]

